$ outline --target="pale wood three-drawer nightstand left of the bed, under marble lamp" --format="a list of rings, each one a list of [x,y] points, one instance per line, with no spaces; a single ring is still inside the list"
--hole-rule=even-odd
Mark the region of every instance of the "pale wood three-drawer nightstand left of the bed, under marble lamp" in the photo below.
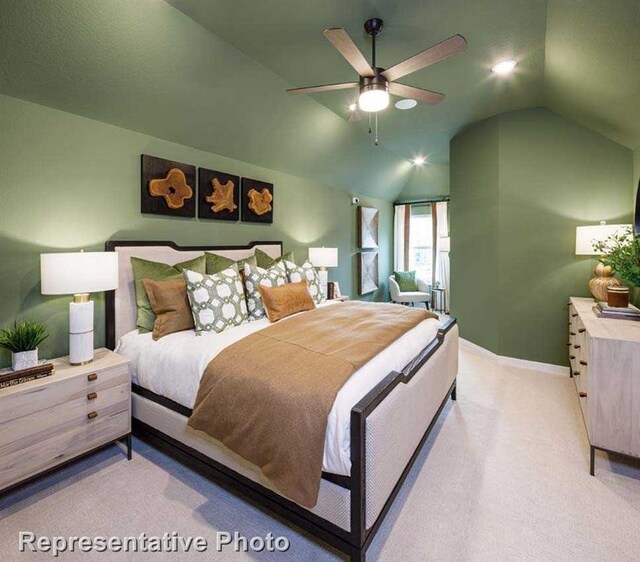
[[[49,377],[0,390],[0,491],[125,440],[131,459],[131,378],[124,357],[98,349]]]

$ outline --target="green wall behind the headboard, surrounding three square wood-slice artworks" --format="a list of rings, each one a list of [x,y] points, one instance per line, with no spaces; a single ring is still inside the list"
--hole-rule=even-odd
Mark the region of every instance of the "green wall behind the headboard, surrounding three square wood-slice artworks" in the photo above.
[[[100,250],[109,238],[211,245],[283,240],[299,261],[308,246],[335,246],[339,267],[329,278],[357,294],[355,208],[343,190],[1,95],[0,126],[0,325],[24,317],[47,322],[53,337],[43,356],[67,352],[69,299],[40,295],[40,253]],[[142,153],[273,182],[274,223],[142,215]],[[367,197],[361,204],[380,209],[384,280],[392,267],[392,204]],[[104,309],[102,295],[95,298],[99,346]],[[0,356],[1,364],[8,360]]]

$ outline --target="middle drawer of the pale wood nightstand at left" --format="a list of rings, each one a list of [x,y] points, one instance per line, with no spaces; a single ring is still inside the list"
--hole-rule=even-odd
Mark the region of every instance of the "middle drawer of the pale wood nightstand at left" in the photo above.
[[[96,412],[130,409],[130,384],[90,390],[66,402],[32,414],[0,423],[0,457],[54,435],[86,424],[87,416]],[[116,406],[116,408],[111,408]]]

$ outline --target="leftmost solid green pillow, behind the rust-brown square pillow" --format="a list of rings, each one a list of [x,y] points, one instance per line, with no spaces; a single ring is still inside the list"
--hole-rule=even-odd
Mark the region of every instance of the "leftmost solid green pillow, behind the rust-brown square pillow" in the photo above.
[[[142,258],[131,258],[131,267],[133,268],[133,283],[136,289],[136,306],[138,308],[136,325],[141,332],[151,332],[156,321],[156,315],[153,313],[142,280],[166,281],[168,279],[181,279],[182,272],[185,269],[197,273],[205,273],[206,260],[203,254],[176,265],[167,265],[166,263],[143,260]]]

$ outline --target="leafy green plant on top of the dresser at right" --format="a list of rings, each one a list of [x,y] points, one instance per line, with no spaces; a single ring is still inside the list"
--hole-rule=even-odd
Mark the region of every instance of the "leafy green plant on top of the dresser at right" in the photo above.
[[[640,237],[636,236],[633,228],[594,244],[594,248],[602,254],[600,261],[611,266],[614,273],[629,285],[629,300],[640,307]]]

